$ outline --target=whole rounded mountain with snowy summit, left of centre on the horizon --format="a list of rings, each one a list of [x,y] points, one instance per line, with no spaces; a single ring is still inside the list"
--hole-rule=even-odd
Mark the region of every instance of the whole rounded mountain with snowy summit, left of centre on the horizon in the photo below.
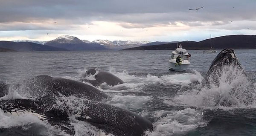
[[[85,43],[79,38],[69,35],[62,35],[52,41],[48,41],[44,45],[64,48],[68,50],[108,50],[98,43]]]

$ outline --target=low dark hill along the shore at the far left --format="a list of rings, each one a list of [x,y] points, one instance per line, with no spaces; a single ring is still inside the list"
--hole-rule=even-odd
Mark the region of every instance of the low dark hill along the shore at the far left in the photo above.
[[[37,43],[21,42],[16,43],[12,41],[0,41],[0,47],[12,49],[16,51],[66,51],[67,49],[55,48],[52,46],[41,45]]]

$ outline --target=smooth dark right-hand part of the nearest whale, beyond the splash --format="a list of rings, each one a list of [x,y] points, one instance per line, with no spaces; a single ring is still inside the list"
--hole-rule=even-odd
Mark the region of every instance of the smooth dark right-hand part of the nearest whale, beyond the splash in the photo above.
[[[116,136],[142,136],[145,130],[153,130],[153,125],[148,119],[128,110],[96,101],[84,102],[87,109],[78,119],[87,121],[106,133]],[[84,116],[90,118],[82,118]]]

